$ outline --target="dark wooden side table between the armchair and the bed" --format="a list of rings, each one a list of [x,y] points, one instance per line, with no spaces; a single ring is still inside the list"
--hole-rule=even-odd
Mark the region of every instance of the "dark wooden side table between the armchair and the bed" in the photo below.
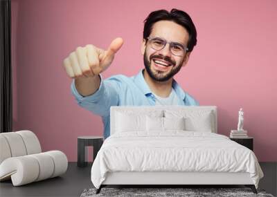
[[[78,137],[78,167],[87,166],[87,147],[93,147],[93,160],[103,143],[103,137],[100,136],[80,136]]]

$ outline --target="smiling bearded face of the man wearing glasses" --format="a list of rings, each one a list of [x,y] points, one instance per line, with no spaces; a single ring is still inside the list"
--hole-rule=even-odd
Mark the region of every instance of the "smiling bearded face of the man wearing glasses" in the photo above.
[[[187,30],[173,21],[158,21],[152,26],[150,37],[159,37],[168,42],[178,42],[188,44],[189,35]],[[154,50],[149,41],[143,41],[141,47],[144,66],[150,77],[159,82],[165,82],[177,74],[181,66],[188,62],[190,53],[186,52],[182,56],[173,55],[169,44],[161,50]],[[163,66],[164,65],[164,66]],[[166,66],[165,66],[166,65]]]

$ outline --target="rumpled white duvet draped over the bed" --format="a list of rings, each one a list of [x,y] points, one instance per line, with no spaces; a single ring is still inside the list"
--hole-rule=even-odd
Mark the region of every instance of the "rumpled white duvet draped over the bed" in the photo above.
[[[93,185],[99,188],[113,171],[248,172],[256,188],[263,177],[250,149],[224,135],[193,131],[115,133],[93,162]]]

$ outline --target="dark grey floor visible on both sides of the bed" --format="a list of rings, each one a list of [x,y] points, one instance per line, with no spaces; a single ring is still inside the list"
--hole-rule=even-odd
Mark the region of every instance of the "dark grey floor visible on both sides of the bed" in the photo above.
[[[276,196],[277,163],[260,162],[265,177],[260,180],[259,189]],[[11,181],[0,182],[0,196],[80,196],[86,188],[93,187],[90,180],[91,166],[77,167],[76,162],[69,162],[69,168],[61,177],[33,182],[28,185],[13,187]]]

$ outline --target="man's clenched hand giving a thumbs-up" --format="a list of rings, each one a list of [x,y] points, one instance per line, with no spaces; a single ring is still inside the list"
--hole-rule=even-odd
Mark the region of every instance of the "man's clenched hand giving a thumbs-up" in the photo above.
[[[114,59],[114,55],[123,45],[123,39],[118,37],[111,41],[107,50],[102,50],[91,44],[78,47],[64,59],[67,75],[75,77],[93,77],[105,71]]]

